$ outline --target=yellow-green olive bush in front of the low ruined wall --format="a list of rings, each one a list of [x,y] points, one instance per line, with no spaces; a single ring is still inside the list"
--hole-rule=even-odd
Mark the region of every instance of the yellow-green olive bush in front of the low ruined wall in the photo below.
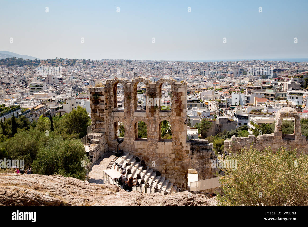
[[[228,157],[230,159],[230,157]],[[220,205],[284,206],[308,204],[308,155],[285,148],[273,152],[241,150],[236,168],[225,168],[220,176],[225,196]]]

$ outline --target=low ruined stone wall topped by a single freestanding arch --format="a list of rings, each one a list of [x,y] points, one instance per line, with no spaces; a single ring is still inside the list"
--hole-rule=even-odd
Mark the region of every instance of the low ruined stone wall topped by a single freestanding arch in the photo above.
[[[285,117],[294,117],[294,133],[282,134],[282,120]],[[271,147],[273,151],[277,151],[281,147],[286,149],[297,149],[297,152],[308,153],[308,141],[306,136],[302,136],[300,117],[298,112],[290,107],[283,107],[276,113],[275,132],[271,135],[260,135],[254,137],[235,137],[225,140],[225,151],[235,153],[242,148],[249,149],[252,145],[253,149],[263,150],[266,147]]]

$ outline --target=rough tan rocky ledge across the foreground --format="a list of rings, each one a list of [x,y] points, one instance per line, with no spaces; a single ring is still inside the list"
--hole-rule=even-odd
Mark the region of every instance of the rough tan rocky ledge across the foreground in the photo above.
[[[214,198],[178,192],[172,195],[128,192],[111,184],[88,183],[61,175],[0,174],[0,205],[16,206],[210,206]]]

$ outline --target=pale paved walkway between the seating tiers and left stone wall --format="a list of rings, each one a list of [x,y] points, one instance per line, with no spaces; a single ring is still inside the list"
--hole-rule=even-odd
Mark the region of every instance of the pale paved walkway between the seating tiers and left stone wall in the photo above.
[[[99,159],[94,163],[91,171],[89,172],[88,181],[90,183],[97,183],[97,184],[100,181],[100,184],[103,184],[103,180],[101,180],[104,175],[103,170],[107,169],[107,166],[109,165],[109,163],[112,161],[113,158],[115,158],[115,155],[111,151],[104,153],[101,157],[99,157]]]

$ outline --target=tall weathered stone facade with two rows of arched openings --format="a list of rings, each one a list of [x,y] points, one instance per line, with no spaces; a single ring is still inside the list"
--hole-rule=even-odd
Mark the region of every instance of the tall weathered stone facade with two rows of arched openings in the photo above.
[[[137,84],[146,86],[146,110],[137,110]],[[161,86],[168,82],[172,88],[172,110],[161,110],[150,99],[161,98]],[[117,84],[124,88],[124,111],[117,109]],[[211,168],[210,158],[216,158],[213,144],[187,141],[187,82],[176,82],[163,78],[151,82],[147,78],[107,80],[105,87],[90,88],[92,132],[104,133],[107,149],[117,147],[117,123],[123,122],[125,128],[124,152],[144,159],[146,165],[159,170],[163,177],[178,187],[187,186],[188,169],[198,172],[199,180],[214,177],[216,169]],[[167,120],[171,124],[172,139],[162,139],[160,123]],[[147,126],[147,138],[138,138],[138,121]],[[215,157],[213,157],[215,156]]]

